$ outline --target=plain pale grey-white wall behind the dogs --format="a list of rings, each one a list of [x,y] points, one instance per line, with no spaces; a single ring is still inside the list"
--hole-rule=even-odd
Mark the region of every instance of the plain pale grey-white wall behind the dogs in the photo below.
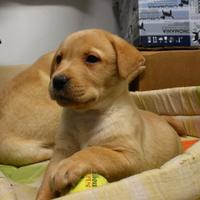
[[[0,65],[32,63],[92,27],[118,33],[112,0],[0,0]]]

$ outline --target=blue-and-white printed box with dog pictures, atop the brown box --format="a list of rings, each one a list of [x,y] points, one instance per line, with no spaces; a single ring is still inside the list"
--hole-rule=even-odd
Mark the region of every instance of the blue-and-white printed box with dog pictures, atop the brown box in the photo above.
[[[200,47],[199,0],[116,2],[122,36],[134,45],[143,48]]]

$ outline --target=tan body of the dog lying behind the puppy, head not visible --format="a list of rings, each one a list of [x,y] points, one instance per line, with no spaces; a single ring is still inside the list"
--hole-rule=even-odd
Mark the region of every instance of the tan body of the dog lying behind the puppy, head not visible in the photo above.
[[[0,163],[51,158],[60,109],[48,94],[54,52],[41,57],[0,91]]]

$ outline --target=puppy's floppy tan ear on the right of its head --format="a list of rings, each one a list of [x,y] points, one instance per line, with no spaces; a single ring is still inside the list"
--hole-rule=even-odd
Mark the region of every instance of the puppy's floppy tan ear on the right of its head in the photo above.
[[[133,80],[144,71],[145,58],[131,44],[116,35],[109,35],[109,39],[116,51],[117,66],[122,78]]]

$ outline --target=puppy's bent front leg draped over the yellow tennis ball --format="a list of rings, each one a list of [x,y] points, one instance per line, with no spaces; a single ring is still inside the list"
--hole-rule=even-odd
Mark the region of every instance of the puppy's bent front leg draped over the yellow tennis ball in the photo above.
[[[50,181],[54,192],[62,193],[87,173],[98,173],[108,181],[115,181],[134,174],[138,167],[133,153],[93,146],[62,160]]]

